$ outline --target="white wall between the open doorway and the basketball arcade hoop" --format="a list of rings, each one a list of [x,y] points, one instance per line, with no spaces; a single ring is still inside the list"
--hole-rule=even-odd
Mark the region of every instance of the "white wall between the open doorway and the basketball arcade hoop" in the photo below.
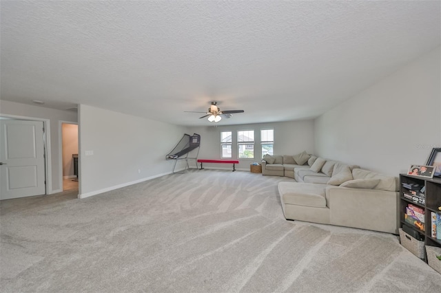
[[[79,106],[79,196],[88,197],[172,172],[165,155],[185,127]],[[93,155],[85,155],[93,151]],[[140,170],[140,173],[138,172]]]

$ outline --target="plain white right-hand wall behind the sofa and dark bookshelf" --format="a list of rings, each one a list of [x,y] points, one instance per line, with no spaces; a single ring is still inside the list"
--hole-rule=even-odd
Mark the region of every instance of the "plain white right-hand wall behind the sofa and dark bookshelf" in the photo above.
[[[315,153],[398,176],[441,147],[440,47],[315,121]]]

